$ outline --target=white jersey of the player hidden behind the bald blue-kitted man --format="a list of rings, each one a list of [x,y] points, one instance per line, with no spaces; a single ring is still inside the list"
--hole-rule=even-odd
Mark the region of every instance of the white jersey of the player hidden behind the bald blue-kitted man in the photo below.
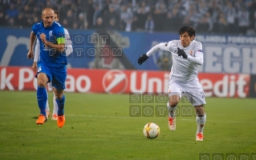
[[[66,56],[68,56],[69,54],[71,54],[73,52],[73,47],[72,47],[72,42],[71,42],[70,35],[69,35],[67,29],[65,29],[65,28],[64,28],[64,33],[65,33]],[[38,62],[39,54],[40,54],[40,43],[39,43],[39,39],[36,39],[34,62]]]

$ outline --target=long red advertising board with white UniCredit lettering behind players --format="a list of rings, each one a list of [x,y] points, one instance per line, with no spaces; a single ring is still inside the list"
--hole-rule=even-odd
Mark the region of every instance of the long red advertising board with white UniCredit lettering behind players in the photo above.
[[[206,97],[245,98],[249,74],[199,74]],[[66,92],[166,93],[169,72],[68,69]],[[28,67],[0,67],[0,90],[36,90],[35,72]]]

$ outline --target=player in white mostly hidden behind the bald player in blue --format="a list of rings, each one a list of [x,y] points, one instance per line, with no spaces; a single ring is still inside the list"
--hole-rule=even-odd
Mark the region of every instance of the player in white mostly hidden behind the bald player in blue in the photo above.
[[[55,21],[58,22],[59,21],[59,12],[55,10]],[[71,42],[71,38],[70,35],[67,31],[67,29],[64,28],[64,32],[65,32],[65,50],[66,50],[66,56],[68,56],[69,54],[71,54],[73,52],[73,47],[72,47],[72,42]],[[34,63],[33,63],[33,70],[38,70],[37,68],[37,62],[39,59],[39,54],[40,54],[40,43],[39,40],[37,39],[36,44],[35,44],[35,55],[34,55]],[[49,86],[52,88],[51,83],[49,83]],[[51,119],[52,120],[57,120],[57,111],[58,111],[58,105],[57,102],[55,101],[55,94],[53,94],[53,110],[52,110],[52,116]],[[50,113],[50,108],[49,108],[49,102],[47,100],[47,118],[49,115],[51,115]]]

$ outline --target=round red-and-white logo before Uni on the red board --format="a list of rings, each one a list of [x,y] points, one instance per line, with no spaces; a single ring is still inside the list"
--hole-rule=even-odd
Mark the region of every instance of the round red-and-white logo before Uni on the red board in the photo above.
[[[108,94],[120,94],[126,89],[128,80],[126,74],[120,70],[109,70],[102,80],[105,92]]]

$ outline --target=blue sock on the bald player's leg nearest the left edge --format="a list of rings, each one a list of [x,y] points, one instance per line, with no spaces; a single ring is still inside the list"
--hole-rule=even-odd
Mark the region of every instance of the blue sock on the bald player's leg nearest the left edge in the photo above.
[[[40,114],[47,116],[46,106],[47,106],[47,90],[44,87],[38,86],[38,90],[36,91],[36,95],[38,97]]]

